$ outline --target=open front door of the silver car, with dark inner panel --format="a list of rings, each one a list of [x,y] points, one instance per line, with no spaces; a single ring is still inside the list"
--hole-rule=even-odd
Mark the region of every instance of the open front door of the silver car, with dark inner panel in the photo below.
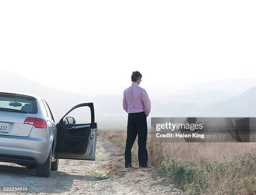
[[[76,124],[74,118],[66,117],[71,111],[82,106],[90,108],[91,123]],[[71,120],[67,118],[71,118]],[[78,104],[70,109],[56,124],[55,157],[59,159],[95,160],[97,123],[94,120],[93,103]]]

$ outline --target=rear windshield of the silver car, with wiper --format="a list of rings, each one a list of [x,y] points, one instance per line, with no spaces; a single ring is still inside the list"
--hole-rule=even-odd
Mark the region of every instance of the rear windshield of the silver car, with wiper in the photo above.
[[[32,97],[8,96],[0,94],[0,111],[36,114],[36,99]]]

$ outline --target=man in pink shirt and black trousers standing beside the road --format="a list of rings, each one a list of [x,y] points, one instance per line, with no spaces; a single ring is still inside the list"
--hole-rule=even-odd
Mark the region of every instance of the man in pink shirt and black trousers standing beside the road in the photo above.
[[[123,109],[128,113],[127,139],[125,146],[125,168],[133,167],[131,164],[131,149],[138,134],[138,161],[139,167],[148,165],[147,144],[147,119],[151,102],[145,89],[139,87],[142,74],[134,71],[130,87],[123,92]]]

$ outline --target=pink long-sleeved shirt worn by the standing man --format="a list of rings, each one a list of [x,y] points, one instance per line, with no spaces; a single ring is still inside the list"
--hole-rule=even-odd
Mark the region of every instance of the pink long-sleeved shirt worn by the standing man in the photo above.
[[[123,109],[127,113],[145,112],[148,116],[151,109],[151,102],[145,89],[132,83],[123,92]]]

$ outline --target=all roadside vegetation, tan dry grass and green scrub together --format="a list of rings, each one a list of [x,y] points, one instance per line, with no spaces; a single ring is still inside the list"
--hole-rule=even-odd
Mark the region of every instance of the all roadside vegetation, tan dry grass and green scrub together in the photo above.
[[[125,147],[125,131],[100,134]],[[256,194],[256,143],[161,143],[149,135],[147,147],[148,163],[186,194]]]

